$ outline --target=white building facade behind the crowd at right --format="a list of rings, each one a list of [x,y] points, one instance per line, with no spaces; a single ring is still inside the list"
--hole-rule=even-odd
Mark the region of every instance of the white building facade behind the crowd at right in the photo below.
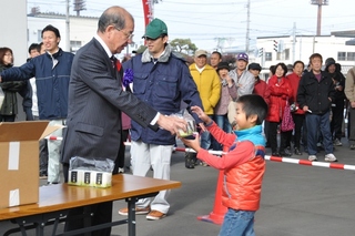
[[[355,34],[338,35],[336,32],[332,32],[331,35],[295,38],[260,37],[256,40],[257,53],[253,60],[262,65],[264,73],[268,73],[268,68],[280,62],[293,64],[301,60],[307,65],[310,55],[317,52],[322,54],[323,62],[327,58],[334,58],[342,65],[342,72],[346,74],[347,70],[355,65],[355,47],[348,43],[354,38]]]

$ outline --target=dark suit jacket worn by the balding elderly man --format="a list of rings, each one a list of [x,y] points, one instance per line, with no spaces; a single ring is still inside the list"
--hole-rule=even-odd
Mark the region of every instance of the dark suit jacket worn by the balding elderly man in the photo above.
[[[143,127],[159,129],[150,125],[156,111],[122,90],[121,74],[99,41],[92,39],[77,52],[72,64],[62,163],[73,156],[114,161],[121,138],[121,111]]]

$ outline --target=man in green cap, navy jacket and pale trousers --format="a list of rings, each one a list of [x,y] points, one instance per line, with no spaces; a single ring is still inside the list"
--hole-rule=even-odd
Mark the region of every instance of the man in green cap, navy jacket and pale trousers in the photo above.
[[[133,94],[145,101],[164,115],[178,113],[181,102],[190,106],[202,107],[202,102],[184,59],[173,52],[168,43],[168,27],[154,19],[146,27],[143,35],[148,49],[123,63],[124,70],[132,70],[136,76],[133,80]],[[202,121],[195,115],[196,123]],[[132,122],[131,160],[133,175],[145,176],[150,167],[153,177],[170,179],[171,154],[175,136],[160,130],[154,132]],[[166,216],[170,204],[170,191],[161,191],[154,198],[140,199],[135,206],[136,214],[148,214],[146,219],[161,219]],[[119,211],[128,215],[129,209]]]

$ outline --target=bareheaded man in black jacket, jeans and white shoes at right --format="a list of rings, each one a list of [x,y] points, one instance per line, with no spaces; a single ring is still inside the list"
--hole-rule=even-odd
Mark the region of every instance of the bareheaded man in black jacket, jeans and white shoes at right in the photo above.
[[[296,100],[300,109],[305,112],[308,161],[317,161],[317,140],[321,131],[325,161],[336,162],[329,124],[329,107],[335,93],[333,80],[328,73],[321,70],[323,58],[320,53],[312,54],[310,63],[312,69],[302,75]]]

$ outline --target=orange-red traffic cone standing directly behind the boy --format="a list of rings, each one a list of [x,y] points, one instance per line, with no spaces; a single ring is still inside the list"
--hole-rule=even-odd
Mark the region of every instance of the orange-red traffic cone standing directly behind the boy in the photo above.
[[[223,151],[225,150],[223,148]],[[219,178],[217,178],[217,186],[215,189],[213,209],[209,215],[197,216],[199,220],[222,225],[224,215],[227,211],[227,208],[222,205],[223,178],[224,178],[224,173],[223,171],[220,171]]]

